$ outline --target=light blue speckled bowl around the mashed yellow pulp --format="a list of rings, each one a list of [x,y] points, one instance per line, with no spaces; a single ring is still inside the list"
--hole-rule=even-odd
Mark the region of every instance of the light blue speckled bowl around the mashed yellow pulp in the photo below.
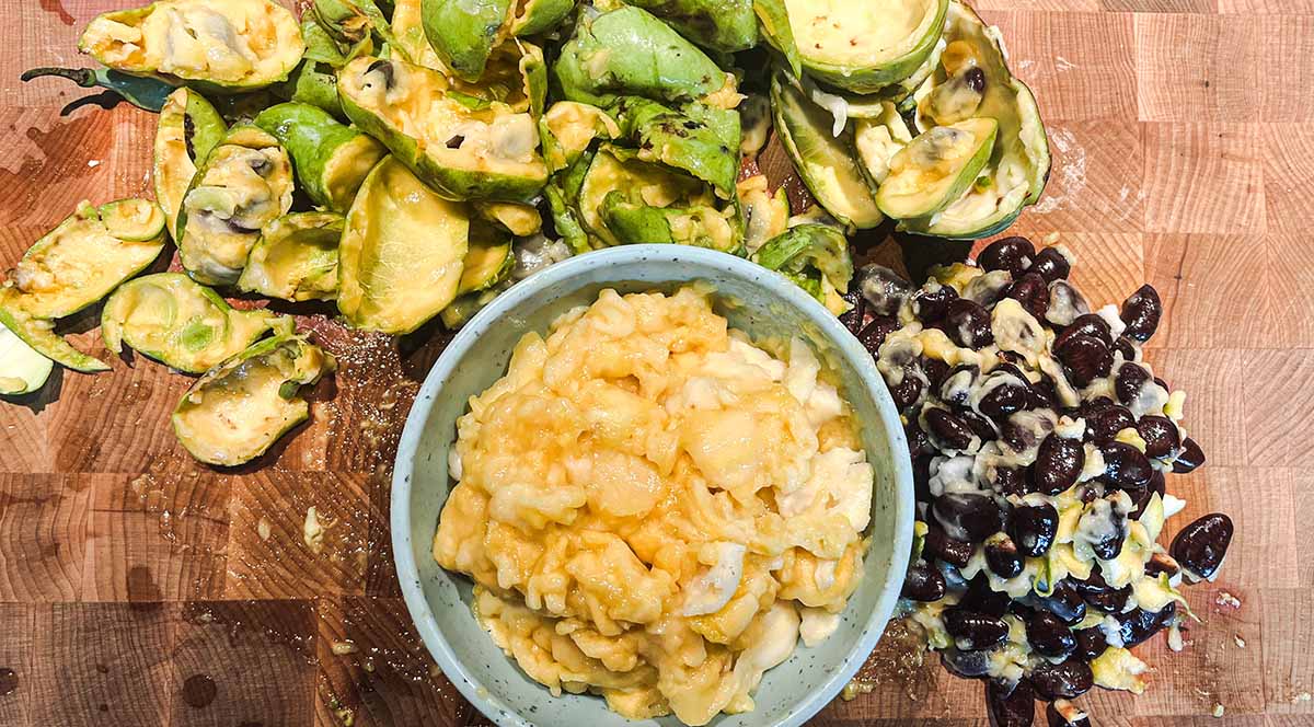
[[[393,475],[393,552],[406,606],[443,672],[489,719],[503,727],[678,726],[673,718],[636,723],[599,697],[552,697],[505,656],[470,613],[470,581],[439,568],[434,531],[451,481],[447,452],[456,419],[476,396],[506,373],[511,351],[528,331],[544,333],[572,308],[604,288],[622,293],[671,292],[692,283],[717,292],[717,313],[754,339],[802,335],[838,375],[862,422],[875,467],[871,548],[862,585],[838,631],[816,648],[802,642],[788,661],[762,678],[748,714],[721,715],[720,727],[802,724],[844,689],[875,647],[903,585],[912,544],[913,488],[899,413],[871,355],[824,306],[774,272],[748,260],[677,245],[627,246],[558,263],[499,296],[448,344],[411,408]]]

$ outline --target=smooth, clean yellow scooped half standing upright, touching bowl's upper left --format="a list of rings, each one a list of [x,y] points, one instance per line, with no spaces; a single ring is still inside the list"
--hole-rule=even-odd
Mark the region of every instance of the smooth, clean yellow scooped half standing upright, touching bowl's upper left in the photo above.
[[[407,334],[452,302],[469,250],[466,206],[385,158],[347,213],[338,309],[359,329]]]

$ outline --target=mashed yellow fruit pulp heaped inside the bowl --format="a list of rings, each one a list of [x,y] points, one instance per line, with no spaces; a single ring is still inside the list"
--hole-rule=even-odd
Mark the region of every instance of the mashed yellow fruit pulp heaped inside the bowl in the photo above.
[[[820,369],[802,340],[783,362],[728,330],[707,291],[604,291],[470,400],[434,556],[553,694],[749,711],[862,576],[872,471]]]

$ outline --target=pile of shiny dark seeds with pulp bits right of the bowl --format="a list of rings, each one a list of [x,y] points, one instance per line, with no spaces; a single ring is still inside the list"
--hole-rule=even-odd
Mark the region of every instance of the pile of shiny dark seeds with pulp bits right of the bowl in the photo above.
[[[1164,475],[1205,460],[1181,426],[1184,394],[1142,356],[1163,306],[1144,285],[1121,309],[1092,312],[1067,280],[1072,264],[1062,246],[1009,237],[920,288],[869,266],[848,317],[913,461],[918,540],[904,610],[946,668],[987,681],[999,724],[1031,724],[1037,698],[1051,724],[1085,724],[1068,699],[1101,673],[1101,686],[1142,689],[1143,664],[1122,649],[1176,628],[1183,575],[1212,580],[1233,535],[1227,515],[1210,514],[1169,550],[1154,543],[1183,505]],[[1064,568],[1049,582],[1054,548],[1071,548],[1088,577]],[[1173,599],[1142,607],[1144,578]]]

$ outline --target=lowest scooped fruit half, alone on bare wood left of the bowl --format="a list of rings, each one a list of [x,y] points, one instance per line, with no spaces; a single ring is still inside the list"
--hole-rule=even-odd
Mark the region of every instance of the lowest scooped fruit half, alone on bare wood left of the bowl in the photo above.
[[[235,467],[263,455],[310,418],[302,387],[336,367],[301,337],[261,340],[208,371],[173,410],[173,434],[193,457]]]

